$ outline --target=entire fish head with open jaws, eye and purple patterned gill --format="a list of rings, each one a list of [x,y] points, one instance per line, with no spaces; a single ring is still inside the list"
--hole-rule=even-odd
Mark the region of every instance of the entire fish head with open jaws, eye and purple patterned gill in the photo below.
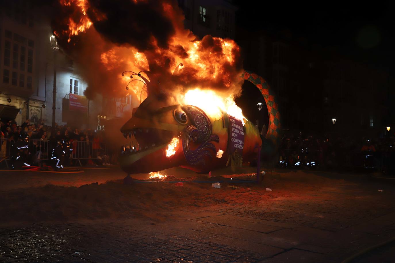
[[[166,100],[147,97],[120,131],[130,137],[122,147],[120,165],[126,173],[148,173],[175,166],[204,170],[215,156],[218,136],[212,135],[209,118],[198,107],[168,106]]]

